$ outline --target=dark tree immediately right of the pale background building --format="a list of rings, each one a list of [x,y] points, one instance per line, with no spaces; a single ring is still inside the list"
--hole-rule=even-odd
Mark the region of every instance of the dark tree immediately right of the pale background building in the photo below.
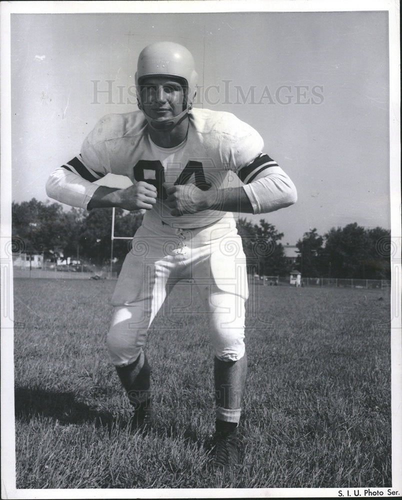
[[[299,253],[296,258],[296,267],[303,276],[319,277],[322,275],[323,239],[316,231],[315,227],[310,229],[296,243]]]

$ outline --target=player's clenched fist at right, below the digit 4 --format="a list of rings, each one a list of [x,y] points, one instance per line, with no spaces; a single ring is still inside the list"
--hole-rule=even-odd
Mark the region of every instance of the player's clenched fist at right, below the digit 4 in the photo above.
[[[183,213],[196,213],[208,208],[205,191],[198,189],[194,184],[174,185],[167,187],[163,184],[167,199],[166,204],[172,208],[171,215],[182,215]]]

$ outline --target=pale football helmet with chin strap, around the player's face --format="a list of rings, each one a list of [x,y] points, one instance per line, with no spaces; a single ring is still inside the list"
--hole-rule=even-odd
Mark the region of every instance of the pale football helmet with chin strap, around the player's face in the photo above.
[[[186,82],[185,108],[174,118],[152,120],[143,110],[140,96],[141,78],[152,75],[166,75],[182,78]],[[171,41],[151,43],[143,48],[138,56],[135,86],[138,108],[154,130],[172,128],[185,114],[190,113],[196,93],[197,73],[194,59],[185,47]]]

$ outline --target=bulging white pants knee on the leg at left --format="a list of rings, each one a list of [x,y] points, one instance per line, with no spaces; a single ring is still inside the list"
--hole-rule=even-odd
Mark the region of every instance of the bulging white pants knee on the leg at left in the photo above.
[[[140,306],[115,307],[107,334],[107,349],[115,366],[125,366],[139,356],[149,320]]]

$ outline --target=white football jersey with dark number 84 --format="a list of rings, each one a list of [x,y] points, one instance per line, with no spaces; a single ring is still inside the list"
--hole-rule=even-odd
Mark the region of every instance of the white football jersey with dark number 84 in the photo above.
[[[151,141],[141,111],[109,114],[85,138],[80,155],[52,173],[49,185],[59,201],[86,207],[98,187],[95,180],[107,173],[126,175],[133,183],[144,180],[156,187],[158,198],[152,210],[163,222],[173,227],[202,227],[224,212],[172,216],[164,201],[163,183],[193,183],[202,190],[229,187],[235,179],[236,185],[247,184],[265,175],[265,169],[277,167],[262,149],[259,133],[227,112],[193,109],[186,139],[172,148]]]

